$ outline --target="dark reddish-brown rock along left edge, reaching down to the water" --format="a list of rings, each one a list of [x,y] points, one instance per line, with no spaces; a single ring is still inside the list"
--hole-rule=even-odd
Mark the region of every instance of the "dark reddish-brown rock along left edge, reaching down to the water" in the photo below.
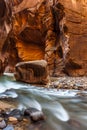
[[[7,66],[7,56],[2,54],[2,48],[12,29],[11,22],[11,3],[0,0],[0,74],[2,74]]]

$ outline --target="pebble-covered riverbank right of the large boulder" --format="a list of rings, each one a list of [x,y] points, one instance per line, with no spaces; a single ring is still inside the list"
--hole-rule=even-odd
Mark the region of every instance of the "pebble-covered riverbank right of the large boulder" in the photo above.
[[[87,90],[87,77],[52,77],[51,81],[52,88]]]

